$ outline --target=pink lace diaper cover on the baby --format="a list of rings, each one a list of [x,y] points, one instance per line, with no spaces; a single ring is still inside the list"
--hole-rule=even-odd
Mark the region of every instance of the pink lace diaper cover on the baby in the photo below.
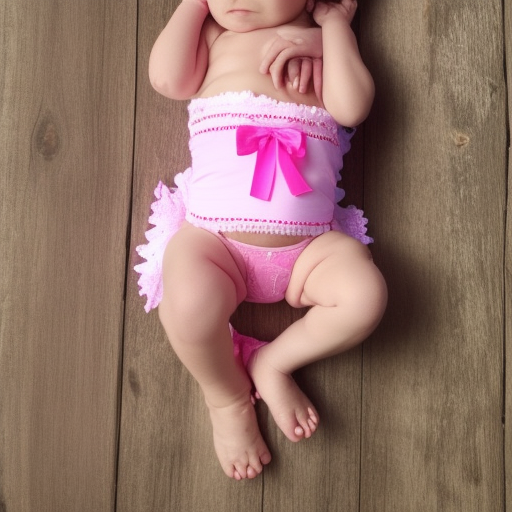
[[[245,274],[247,302],[270,304],[284,299],[292,269],[302,251],[311,243],[308,238],[287,247],[258,247],[219,235]]]

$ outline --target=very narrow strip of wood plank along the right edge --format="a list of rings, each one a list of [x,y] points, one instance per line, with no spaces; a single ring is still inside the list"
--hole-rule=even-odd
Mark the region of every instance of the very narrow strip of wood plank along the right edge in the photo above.
[[[508,126],[512,126],[512,0],[504,2]],[[509,134],[510,137],[510,134]],[[505,510],[512,510],[512,159],[508,147],[508,204],[505,233]]]

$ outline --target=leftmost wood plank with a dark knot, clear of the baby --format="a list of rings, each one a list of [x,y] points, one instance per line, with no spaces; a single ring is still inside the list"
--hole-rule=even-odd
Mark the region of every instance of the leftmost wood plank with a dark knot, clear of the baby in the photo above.
[[[0,3],[1,510],[113,510],[135,7]]]

